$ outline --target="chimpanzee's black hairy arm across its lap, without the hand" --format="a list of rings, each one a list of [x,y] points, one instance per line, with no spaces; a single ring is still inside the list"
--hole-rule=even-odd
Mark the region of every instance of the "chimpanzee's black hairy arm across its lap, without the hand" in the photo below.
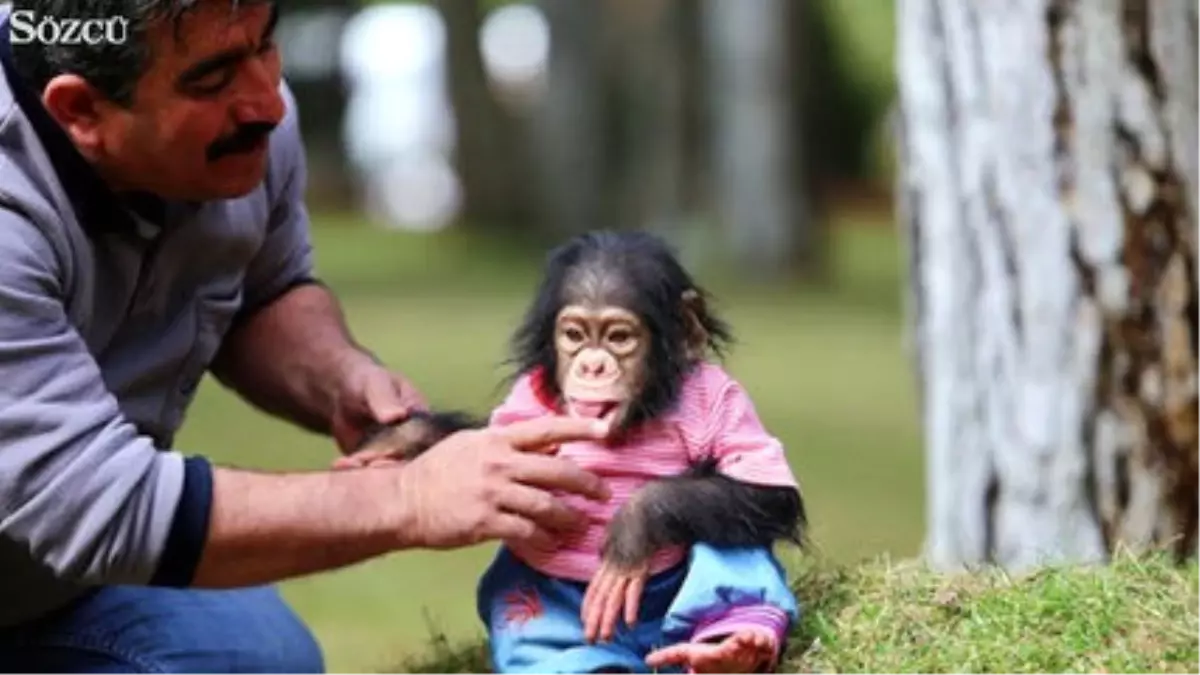
[[[715,460],[642,488],[613,518],[605,560],[636,567],[671,545],[804,544],[808,520],[799,490],[752,485],[722,476]]]

